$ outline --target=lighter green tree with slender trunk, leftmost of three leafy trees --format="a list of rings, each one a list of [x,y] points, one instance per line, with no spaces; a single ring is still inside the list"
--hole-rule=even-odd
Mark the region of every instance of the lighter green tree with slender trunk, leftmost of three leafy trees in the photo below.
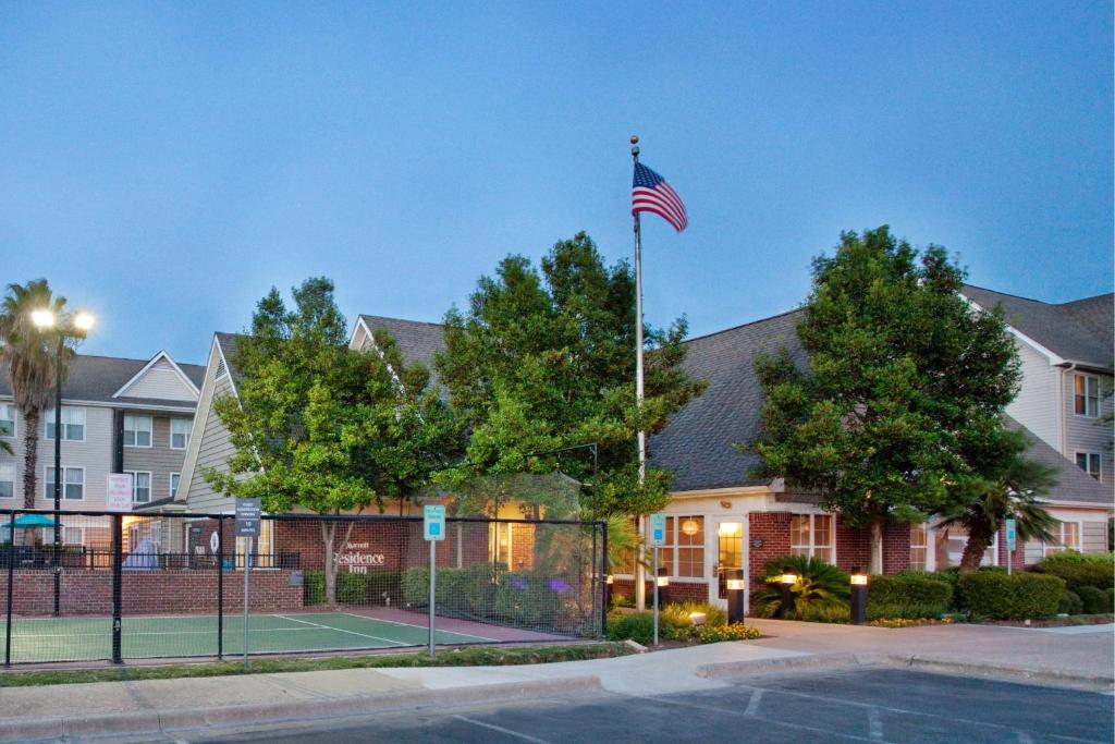
[[[421,487],[452,461],[458,429],[430,389],[429,371],[405,365],[390,336],[377,332],[375,351],[348,348],[331,281],[308,279],[292,294],[288,310],[272,289],[237,342],[239,399],[214,403],[235,453],[227,473],[205,477],[232,496],[261,497],[270,512],[382,512],[385,500]],[[337,528],[321,522],[330,603]]]

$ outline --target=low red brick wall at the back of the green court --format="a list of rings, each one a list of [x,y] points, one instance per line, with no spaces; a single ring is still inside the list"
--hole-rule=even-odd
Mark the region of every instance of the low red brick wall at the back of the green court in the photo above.
[[[290,586],[290,571],[252,572],[251,609],[258,612],[298,610],[302,587]],[[224,607],[242,607],[244,579],[240,571],[224,574]],[[23,617],[54,611],[54,574],[17,570],[13,577],[12,612]],[[124,615],[210,615],[217,608],[216,571],[124,571],[120,577]],[[7,592],[4,592],[7,596]],[[62,573],[59,608],[64,617],[112,615],[113,572]],[[7,611],[7,606],[3,608]]]

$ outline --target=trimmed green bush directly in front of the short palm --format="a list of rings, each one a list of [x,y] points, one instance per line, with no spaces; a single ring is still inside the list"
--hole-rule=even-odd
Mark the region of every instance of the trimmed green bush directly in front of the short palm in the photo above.
[[[1055,615],[1065,581],[1041,573],[977,571],[958,584],[968,608],[995,620],[1025,620]]]

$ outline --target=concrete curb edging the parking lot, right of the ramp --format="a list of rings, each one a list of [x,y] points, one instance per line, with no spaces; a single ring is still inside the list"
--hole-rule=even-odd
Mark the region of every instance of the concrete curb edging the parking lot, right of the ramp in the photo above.
[[[891,666],[915,667],[925,671],[939,671],[966,677],[986,677],[1004,682],[1028,682],[1053,687],[1070,687],[1093,692],[1115,689],[1115,677],[1067,674],[1051,669],[1034,669],[1009,665],[988,665],[931,656],[902,654],[816,654],[787,656],[756,661],[725,661],[697,667],[698,677],[733,677],[796,669],[822,669],[842,666]]]

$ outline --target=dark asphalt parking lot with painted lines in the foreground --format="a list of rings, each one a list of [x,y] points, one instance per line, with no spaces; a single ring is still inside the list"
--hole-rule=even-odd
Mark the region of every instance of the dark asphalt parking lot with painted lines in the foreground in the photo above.
[[[177,742],[1096,742],[1115,740],[1111,695],[893,668],[739,677],[682,695],[597,694],[392,713]]]

